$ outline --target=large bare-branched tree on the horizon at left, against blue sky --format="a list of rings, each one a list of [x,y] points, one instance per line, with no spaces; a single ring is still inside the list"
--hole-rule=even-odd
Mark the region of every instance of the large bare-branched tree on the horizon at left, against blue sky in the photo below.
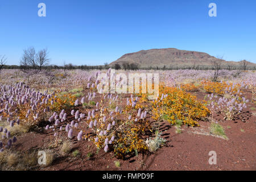
[[[20,69],[27,72],[32,69],[35,72],[40,72],[42,68],[49,63],[47,49],[42,49],[36,53],[34,47],[23,50],[22,59],[20,59]]]

